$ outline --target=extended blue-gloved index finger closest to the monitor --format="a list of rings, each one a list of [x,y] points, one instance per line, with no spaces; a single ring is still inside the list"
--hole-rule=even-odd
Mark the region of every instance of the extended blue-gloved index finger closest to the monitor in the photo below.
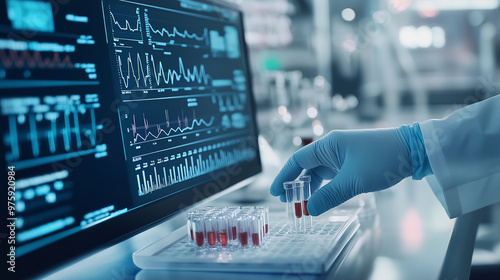
[[[284,182],[293,181],[299,176],[302,170],[312,169],[320,164],[314,154],[314,145],[315,143],[305,146],[288,159],[271,185],[272,195],[281,195],[284,192]]]

